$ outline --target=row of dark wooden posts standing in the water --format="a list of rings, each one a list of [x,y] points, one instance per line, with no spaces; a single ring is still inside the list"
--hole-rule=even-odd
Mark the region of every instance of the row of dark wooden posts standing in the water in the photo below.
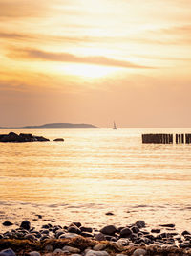
[[[173,134],[142,134],[142,143],[173,144]],[[191,144],[191,134],[175,134],[176,144]]]

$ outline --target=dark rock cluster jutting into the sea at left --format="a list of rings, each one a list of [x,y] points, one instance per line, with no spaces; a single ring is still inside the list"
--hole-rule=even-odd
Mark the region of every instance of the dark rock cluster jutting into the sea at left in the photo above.
[[[33,142],[33,141],[50,141],[43,136],[34,136],[32,134],[20,133],[19,135],[10,132],[9,134],[0,134],[0,142]]]

